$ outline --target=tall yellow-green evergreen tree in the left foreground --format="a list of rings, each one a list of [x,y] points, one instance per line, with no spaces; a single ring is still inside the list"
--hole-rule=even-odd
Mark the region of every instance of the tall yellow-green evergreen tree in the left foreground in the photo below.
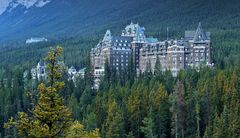
[[[58,64],[63,49],[57,47],[48,53],[48,83],[38,86],[39,99],[31,114],[18,113],[18,119],[11,118],[6,128],[16,127],[24,137],[59,137],[63,135],[72,122],[72,114],[64,106],[59,91],[64,87],[61,79],[62,68]]]

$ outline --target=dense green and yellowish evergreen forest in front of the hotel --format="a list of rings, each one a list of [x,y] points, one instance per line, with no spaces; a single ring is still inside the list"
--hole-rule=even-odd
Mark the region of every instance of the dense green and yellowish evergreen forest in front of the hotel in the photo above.
[[[158,64],[157,74],[147,72],[139,77],[131,64],[121,73],[110,71],[106,65],[99,91],[91,89],[89,61],[86,66],[85,78],[79,78],[76,84],[63,72],[65,86],[59,90],[73,118],[86,131],[98,128],[101,137],[109,138],[240,135],[239,64],[223,69],[188,69],[176,78],[170,71],[161,72]],[[23,78],[21,68],[6,70],[0,87],[2,136],[17,135],[16,129],[2,128],[4,122],[38,105],[38,84],[42,82],[35,82],[30,74]]]

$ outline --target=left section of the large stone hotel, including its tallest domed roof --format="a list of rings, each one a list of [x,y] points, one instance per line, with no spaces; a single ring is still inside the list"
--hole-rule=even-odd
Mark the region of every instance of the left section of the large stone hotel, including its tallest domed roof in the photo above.
[[[106,61],[113,70],[126,70],[132,55],[136,68],[139,68],[140,48],[146,42],[144,31],[144,27],[133,23],[122,31],[121,36],[112,36],[110,30],[107,30],[103,40],[91,50],[94,70],[103,69]]]

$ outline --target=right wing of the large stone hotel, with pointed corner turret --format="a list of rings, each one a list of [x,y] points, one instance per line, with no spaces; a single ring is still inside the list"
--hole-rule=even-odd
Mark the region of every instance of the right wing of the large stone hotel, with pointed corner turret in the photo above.
[[[145,43],[140,50],[140,71],[151,69],[154,73],[157,57],[162,70],[172,71],[177,76],[180,70],[188,67],[211,66],[210,33],[202,29],[201,23],[196,31],[186,31],[181,40]]]

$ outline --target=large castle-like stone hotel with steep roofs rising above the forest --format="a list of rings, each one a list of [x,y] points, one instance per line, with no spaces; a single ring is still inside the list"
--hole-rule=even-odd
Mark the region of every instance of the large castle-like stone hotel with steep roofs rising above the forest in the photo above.
[[[184,38],[165,41],[146,37],[144,27],[131,23],[121,36],[112,36],[107,30],[103,40],[91,50],[91,64],[98,78],[104,75],[106,61],[111,69],[119,71],[127,69],[132,58],[137,73],[149,70],[154,73],[159,58],[162,71],[170,70],[177,76],[186,68],[212,66],[210,46],[210,32],[205,32],[201,23],[196,31],[185,31]]]

